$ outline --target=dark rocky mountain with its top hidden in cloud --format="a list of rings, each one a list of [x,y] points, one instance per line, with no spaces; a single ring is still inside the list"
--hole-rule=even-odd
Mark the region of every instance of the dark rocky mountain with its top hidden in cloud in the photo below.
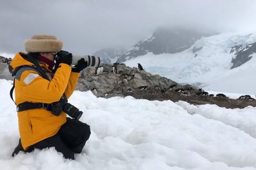
[[[209,36],[209,34],[189,29],[158,29],[152,37],[132,46],[131,50],[125,52],[116,62],[125,62],[140,55],[146,55],[148,52],[155,55],[182,52],[202,36]]]

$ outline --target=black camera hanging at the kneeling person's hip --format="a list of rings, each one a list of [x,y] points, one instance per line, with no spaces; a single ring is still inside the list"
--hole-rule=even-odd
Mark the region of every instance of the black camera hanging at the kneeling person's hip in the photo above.
[[[79,118],[83,115],[83,111],[77,109],[74,105],[68,103],[68,99],[66,96],[62,96],[60,101],[56,103],[52,103],[52,114],[60,115],[61,111],[67,113],[68,116],[79,120]]]

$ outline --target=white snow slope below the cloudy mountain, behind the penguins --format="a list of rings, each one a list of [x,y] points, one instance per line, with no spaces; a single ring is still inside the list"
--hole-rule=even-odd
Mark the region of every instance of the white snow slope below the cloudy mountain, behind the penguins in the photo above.
[[[245,47],[254,42],[256,42],[256,33],[222,33],[201,38],[191,48],[180,53],[161,55],[147,53],[127,60],[125,64],[136,67],[137,63],[140,63],[145,71],[152,74],[165,76],[177,83],[194,83],[204,87],[205,90],[256,94],[255,53],[251,60],[230,70],[235,53],[230,53],[231,48],[235,45]],[[202,47],[202,49],[193,53],[194,47]]]

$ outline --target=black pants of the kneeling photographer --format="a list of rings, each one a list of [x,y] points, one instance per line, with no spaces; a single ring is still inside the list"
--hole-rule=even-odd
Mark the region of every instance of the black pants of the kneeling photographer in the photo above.
[[[74,159],[74,153],[82,152],[90,134],[89,125],[67,118],[67,122],[61,126],[56,135],[29,146],[26,152],[32,152],[35,148],[42,150],[54,147],[58,152],[63,153],[66,159]]]

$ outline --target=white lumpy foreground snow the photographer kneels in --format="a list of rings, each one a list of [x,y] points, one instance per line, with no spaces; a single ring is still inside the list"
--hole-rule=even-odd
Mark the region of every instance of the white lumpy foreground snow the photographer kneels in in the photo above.
[[[91,126],[83,152],[75,160],[63,159],[54,148],[13,158],[19,130],[11,83],[0,80],[1,169],[256,169],[256,108],[104,99],[79,91],[69,102]]]

